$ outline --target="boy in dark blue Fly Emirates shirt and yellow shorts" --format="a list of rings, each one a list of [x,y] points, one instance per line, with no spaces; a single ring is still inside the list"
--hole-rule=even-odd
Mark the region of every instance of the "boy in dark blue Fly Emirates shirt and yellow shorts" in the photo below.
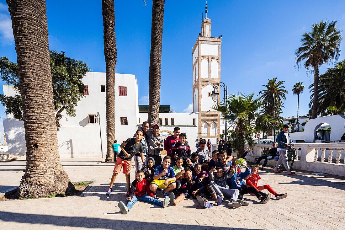
[[[175,172],[170,167],[171,157],[165,156],[163,158],[163,164],[156,167],[155,174],[153,176],[153,181],[150,184],[150,189],[153,192],[155,196],[157,196],[157,189],[158,188],[164,188],[163,194],[164,197],[167,197],[167,192],[173,190],[176,188],[176,177]],[[174,204],[174,193],[170,193],[170,202],[173,205]]]

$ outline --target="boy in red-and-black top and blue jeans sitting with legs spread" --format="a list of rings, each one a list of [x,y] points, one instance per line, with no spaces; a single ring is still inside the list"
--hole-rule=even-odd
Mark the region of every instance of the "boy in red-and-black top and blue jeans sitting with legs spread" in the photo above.
[[[151,192],[149,183],[144,179],[144,171],[137,171],[137,179],[132,182],[129,196],[127,197],[128,203],[125,205],[122,201],[119,202],[119,208],[122,213],[127,214],[133,205],[138,201],[145,201],[163,208],[168,206],[169,197],[165,197],[163,201],[154,198],[154,194]]]

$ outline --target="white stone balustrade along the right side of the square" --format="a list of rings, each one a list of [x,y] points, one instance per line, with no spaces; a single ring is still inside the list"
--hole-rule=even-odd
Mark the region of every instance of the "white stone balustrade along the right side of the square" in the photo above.
[[[271,144],[256,144],[253,151],[247,154],[247,160],[255,162],[254,157],[261,156]],[[294,169],[345,175],[345,143],[296,143]],[[300,160],[298,160],[300,159]],[[269,161],[274,166],[276,161]]]

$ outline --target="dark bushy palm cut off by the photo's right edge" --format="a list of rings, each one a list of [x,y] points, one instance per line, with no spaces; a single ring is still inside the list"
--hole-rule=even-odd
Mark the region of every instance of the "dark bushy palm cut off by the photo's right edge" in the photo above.
[[[314,84],[309,86],[311,91]],[[317,114],[327,115],[328,106],[340,109],[345,104],[345,60],[339,62],[335,67],[329,68],[326,73],[320,75],[317,87],[319,107]],[[313,103],[313,95],[311,102]],[[339,110],[341,111],[341,109]],[[333,112],[332,112],[333,113]],[[335,112],[337,114],[337,112]]]

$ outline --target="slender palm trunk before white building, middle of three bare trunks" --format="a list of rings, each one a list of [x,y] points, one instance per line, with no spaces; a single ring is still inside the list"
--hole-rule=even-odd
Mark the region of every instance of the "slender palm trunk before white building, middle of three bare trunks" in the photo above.
[[[112,144],[115,140],[115,65],[116,38],[114,0],[102,0],[103,44],[106,61],[106,115],[107,115],[107,156],[106,162],[114,162]]]

